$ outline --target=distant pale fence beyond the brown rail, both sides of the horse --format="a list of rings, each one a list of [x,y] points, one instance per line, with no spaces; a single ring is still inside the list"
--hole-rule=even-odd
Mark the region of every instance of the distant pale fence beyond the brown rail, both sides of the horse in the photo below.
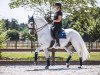
[[[88,49],[100,49],[100,42],[85,42]],[[7,41],[3,44],[4,49],[32,49],[37,48],[38,41]]]

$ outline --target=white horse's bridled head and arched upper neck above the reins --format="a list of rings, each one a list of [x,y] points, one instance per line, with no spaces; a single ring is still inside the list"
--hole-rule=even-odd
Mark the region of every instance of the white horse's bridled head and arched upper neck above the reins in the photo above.
[[[42,17],[30,17],[28,20],[29,33],[33,34],[37,32],[40,28],[44,27],[47,21]]]

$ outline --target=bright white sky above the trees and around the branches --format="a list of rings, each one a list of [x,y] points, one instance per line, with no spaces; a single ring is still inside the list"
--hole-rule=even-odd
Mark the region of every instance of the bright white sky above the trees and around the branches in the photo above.
[[[0,0],[0,19],[12,19],[15,18],[19,23],[27,23],[28,15],[32,15],[34,11],[26,10],[25,8],[19,7],[10,9],[8,3],[10,0]],[[100,0],[97,0],[98,6],[100,6]]]

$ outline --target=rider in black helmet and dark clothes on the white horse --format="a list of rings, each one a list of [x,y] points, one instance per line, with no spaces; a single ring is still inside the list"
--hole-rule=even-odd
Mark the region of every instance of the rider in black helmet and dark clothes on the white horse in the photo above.
[[[60,46],[58,32],[62,28],[62,10],[61,10],[61,3],[55,3],[55,14],[54,14],[54,29],[53,34],[56,39],[56,46]]]

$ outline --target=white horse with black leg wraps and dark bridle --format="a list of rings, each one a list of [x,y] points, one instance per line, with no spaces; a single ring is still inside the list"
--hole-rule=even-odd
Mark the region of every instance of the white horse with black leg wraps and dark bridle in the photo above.
[[[53,40],[51,36],[51,27],[52,24],[48,24],[48,22],[43,17],[40,16],[34,16],[34,17],[32,16],[28,20],[29,33],[30,34],[33,32],[37,33],[38,43],[40,45],[35,50],[34,62],[35,64],[38,63],[37,61],[38,52],[40,50],[43,50],[47,63],[45,69],[49,69],[50,66],[50,52],[48,48],[50,46],[51,41]],[[73,51],[68,46],[68,43],[70,42],[79,56],[80,65],[78,68],[82,68],[83,61],[89,58],[89,52],[86,48],[86,45],[81,35],[76,30],[69,28],[69,29],[64,29],[64,32],[66,34],[66,38],[64,39],[60,38],[59,41],[60,41],[60,48],[65,49],[69,53],[69,56],[66,60],[66,66],[69,67],[69,61],[73,55]],[[53,47],[55,47],[55,45],[53,45]]]

